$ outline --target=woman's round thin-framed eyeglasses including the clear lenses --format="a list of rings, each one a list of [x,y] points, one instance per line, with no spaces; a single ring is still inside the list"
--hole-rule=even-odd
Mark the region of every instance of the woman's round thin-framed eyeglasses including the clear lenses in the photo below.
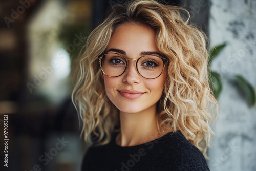
[[[147,79],[159,77],[168,61],[168,59],[158,55],[144,55],[138,59],[126,59],[123,55],[114,52],[100,55],[98,59],[102,72],[109,77],[122,75],[127,68],[127,61],[135,60],[138,73]]]

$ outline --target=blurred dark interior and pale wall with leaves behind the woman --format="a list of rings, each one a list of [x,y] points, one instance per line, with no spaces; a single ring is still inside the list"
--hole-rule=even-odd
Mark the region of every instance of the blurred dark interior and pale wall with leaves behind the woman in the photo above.
[[[80,138],[72,72],[89,33],[124,2],[0,2],[0,170],[80,170],[90,144]],[[210,170],[256,170],[256,0],[161,2],[186,8],[216,47],[210,69],[220,109]]]

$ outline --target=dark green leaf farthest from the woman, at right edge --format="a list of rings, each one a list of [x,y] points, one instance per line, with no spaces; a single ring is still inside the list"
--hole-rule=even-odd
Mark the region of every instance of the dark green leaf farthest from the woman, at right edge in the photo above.
[[[249,106],[252,107],[255,104],[255,102],[256,102],[256,95],[255,95],[254,88],[241,75],[236,75],[236,81],[238,83],[239,89],[245,95],[245,98],[246,98],[247,102],[249,103]]]

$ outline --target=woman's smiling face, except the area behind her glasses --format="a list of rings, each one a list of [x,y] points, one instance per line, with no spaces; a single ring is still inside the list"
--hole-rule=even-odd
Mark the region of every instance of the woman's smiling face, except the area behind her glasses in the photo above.
[[[138,59],[141,52],[160,53],[152,29],[139,24],[120,25],[114,31],[106,51],[123,51],[126,58]],[[119,51],[116,51],[119,50]],[[123,54],[125,53],[125,54]],[[155,78],[143,78],[136,69],[136,61],[128,60],[127,69],[118,77],[103,74],[106,95],[121,112],[138,113],[154,109],[163,92],[166,72]]]

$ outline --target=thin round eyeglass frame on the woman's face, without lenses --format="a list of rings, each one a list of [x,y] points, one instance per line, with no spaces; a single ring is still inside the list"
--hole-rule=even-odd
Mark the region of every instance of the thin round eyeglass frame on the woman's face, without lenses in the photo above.
[[[125,62],[125,69],[124,69],[124,71],[123,71],[120,75],[122,75],[122,74],[126,71],[127,66],[128,66],[128,62],[127,62],[128,60],[135,60],[135,61],[136,61],[136,69],[137,69],[138,73],[140,74],[140,72],[139,72],[139,70],[138,70],[138,65],[137,65],[137,63],[138,63],[138,61],[139,61],[140,58],[145,57],[145,56],[156,56],[156,57],[161,58],[161,59],[163,60],[163,69],[162,69],[162,72],[161,72],[157,77],[159,77],[159,76],[163,73],[165,64],[168,62],[168,59],[167,59],[167,58],[164,58],[164,57],[161,57],[161,56],[158,56],[158,55],[143,55],[143,56],[139,57],[138,59],[133,59],[133,58],[126,59],[123,55],[121,55],[121,54],[119,54],[119,53],[108,52],[108,53],[105,53],[105,54],[103,54],[103,55],[99,55],[99,56],[98,56],[98,59],[99,59],[99,66],[100,66],[101,71],[102,71],[106,76],[109,76],[109,77],[119,77],[120,75],[118,75],[118,76],[110,76],[110,75],[106,74],[106,73],[103,71],[102,66],[101,66],[101,59],[102,59],[102,57],[103,57],[104,55],[106,55],[106,54],[117,54],[117,55],[122,56],[122,57],[126,60],[126,62]],[[146,77],[144,77],[144,76],[141,75],[141,74],[140,74],[140,76],[142,76],[143,78],[146,78]],[[155,78],[157,78],[157,77],[155,77]],[[146,79],[155,79],[155,78],[146,78]]]

